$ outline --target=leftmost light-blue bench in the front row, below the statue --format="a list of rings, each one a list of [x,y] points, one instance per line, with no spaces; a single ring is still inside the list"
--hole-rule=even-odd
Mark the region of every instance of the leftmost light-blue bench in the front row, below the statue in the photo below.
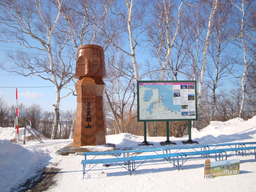
[[[120,164],[121,162],[127,162],[128,168],[121,165]],[[88,171],[90,171],[91,169],[93,169],[93,167],[95,167],[99,163],[103,163],[103,164],[105,164],[105,163],[116,163],[119,166],[122,166],[123,168],[130,171],[130,175],[131,175],[131,158],[130,157],[120,157],[120,158],[110,158],[110,159],[90,159],[90,160],[82,160],[81,161],[81,164],[83,165],[83,179],[84,179],[84,174],[87,173]],[[86,170],[86,165],[87,164],[93,164],[93,166],[90,167],[90,169]]]

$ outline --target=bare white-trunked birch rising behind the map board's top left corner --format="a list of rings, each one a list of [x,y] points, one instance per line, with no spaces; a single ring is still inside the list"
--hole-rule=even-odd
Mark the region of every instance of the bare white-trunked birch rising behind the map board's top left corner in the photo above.
[[[145,5],[143,1],[135,2],[134,0],[115,0],[111,6],[111,19],[108,20],[106,27],[100,27],[102,33],[112,44],[113,47],[120,49],[131,58],[134,68],[134,80],[140,80],[138,72],[138,63],[136,59],[136,47],[140,45],[139,36],[143,32],[143,19],[145,13]],[[121,38],[128,39],[126,46],[120,47],[117,42]]]

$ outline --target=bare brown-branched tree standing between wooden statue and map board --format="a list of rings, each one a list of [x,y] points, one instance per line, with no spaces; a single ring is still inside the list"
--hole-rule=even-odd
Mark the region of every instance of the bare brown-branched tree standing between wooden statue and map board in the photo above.
[[[133,83],[133,65],[127,55],[115,47],[110,47],[106,55],[107,88],[105,95],[111,107],[116,126],[115,133],[127,132],[125,119],[129,119],[134,104],[136,86]]]

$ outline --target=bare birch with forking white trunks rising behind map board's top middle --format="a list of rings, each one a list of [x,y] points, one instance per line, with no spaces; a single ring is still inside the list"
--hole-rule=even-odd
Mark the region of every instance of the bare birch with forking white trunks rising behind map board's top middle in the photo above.
[[[173,1],[173,0],[157,0],[152,2],[151,16],[154,17],[155,23],[149,23],[147,29],[148,38],[153,52],[156,52],[159,67],[161,70],[166,70],[168,65],[171,70],[178,70],[180,68],[177,61],[180,57],[180,49],[186,32],[182,34],[180,30],[182,15],[186,12],[186,9],[193,4],[193,0],[190,1]],[[158,22],[158,23],[156,23]],[[184,26],[184,25],[183,25]],[[178,45],[177,59],[174,61],[175,67],[170,64],[170,57],[172,48],[175,45],[176,38],[180,36],[180,42]],[[153,54],[155,55],[155,53]],[[177,73],[174,73],[177,80]],[[162,72],[160,81],[163,81],[165,77],[165,71]]]

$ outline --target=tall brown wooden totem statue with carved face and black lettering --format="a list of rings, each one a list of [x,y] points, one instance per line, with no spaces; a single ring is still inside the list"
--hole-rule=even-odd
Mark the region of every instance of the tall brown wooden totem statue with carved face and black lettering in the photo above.
[[[98,45],[78,47],[75,78],[77,93],[73,146],[106,144],[103,78],[106,77],[104,51]]]

